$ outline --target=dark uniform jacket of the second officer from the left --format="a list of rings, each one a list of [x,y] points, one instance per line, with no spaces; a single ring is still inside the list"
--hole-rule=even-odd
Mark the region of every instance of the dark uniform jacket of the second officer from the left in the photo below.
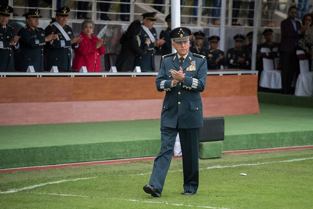
[[[44,71],[44,46],[46,35],[43,28],[33,30],[28,25],[18,31],[20,42],[20,70],[34,66],[35,71]]]

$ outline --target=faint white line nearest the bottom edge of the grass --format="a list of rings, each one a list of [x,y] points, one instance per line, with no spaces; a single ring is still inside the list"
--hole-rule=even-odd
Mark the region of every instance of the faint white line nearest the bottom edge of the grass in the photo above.
[[[58,193],[38,193],[38,192],[31,192],[31,194],[38,194],[38,195],[58,195],[58,196],[74,196],[74,197],[87,197],[87,198],[98,198],[98,197],[91,197],[91,196],[85,196],[85,195],[70,195],[70,194],[58,194]],[[187,207],[196,207],[196,208],[212,208],[212,209],[227,209],[227,208],[219,208],[219,207],[211,207],[211,206],[198,206],[198,205],[186,205],[186,204],[177,204],[177,203],[168,203],[166,201],[159,202],[159,201],[143,201],[143,200],[135,200],[135,199],[118,199],[118,198],[106,198],[104,199],[109,200],[123,200],[123,201],[132,201],[132,202],[142,202],[142,203],[155,203],[155,204],[167,204],[167,205],[174,205],[174,206],[187,206]],[[99,198],[102,199],[102,198]]]

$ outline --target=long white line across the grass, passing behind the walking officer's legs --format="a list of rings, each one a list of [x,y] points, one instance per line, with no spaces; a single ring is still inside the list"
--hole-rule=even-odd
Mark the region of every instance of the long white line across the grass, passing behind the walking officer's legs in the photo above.
[[[238,165],[231,165],[231,166],[211,166],[211,167],[206,167],[206,168],[199,168],[199,170],[215,169],[215,168],[229,168],[229,167],[237,167],[237,166],[259,166],[259,165],[265,165],[265,164],[271,164],[271,163],[295,162],[295,161],[304,161],[304,160],[313,160],[313,157],[298,158],[298,159],[291,159],[291,160],[284,160],[284,161],[263,162],[263,163],[238,164]],[[168,172],[178,172],[178,171],[182,171],[182,170],[168,171]],[[131,174],[131,175],[117,175],[117,176],[141,176],[141,175],[147,175],[147,174],[151,174],[151,172],[149,172],[149,173]],[[46,182],[46,183],[42,183],[42,184],[26,186],[26,187],[19,188],[19,189],[10,189],[8,191],[0,191],[0,194],[14,193],[14,192],[18,192],[18,191],[33,189],[33,188],[38,187],[38,186],[45,186],[45,185],[48,185],[48,184],[58,184],[58,183],[61,183],[61,182],[66,182],[66,181],[78,181],[78,180],[85,180],[85,179],[92,179],[92,178],[97,178],[97,176],[95,176],[95,177],[88,177],[88,178],[77,178],[77,179],[69,179],[69,180],[60,180],[60,181]]]

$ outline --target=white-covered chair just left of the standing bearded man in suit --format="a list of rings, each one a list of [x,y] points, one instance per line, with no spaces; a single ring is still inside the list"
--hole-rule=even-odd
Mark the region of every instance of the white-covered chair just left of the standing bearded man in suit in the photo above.
[[[281,70],[275,70],[275,61],[269,48],[262,47],[263,71],[259,86],[269,89],[281,89]]]

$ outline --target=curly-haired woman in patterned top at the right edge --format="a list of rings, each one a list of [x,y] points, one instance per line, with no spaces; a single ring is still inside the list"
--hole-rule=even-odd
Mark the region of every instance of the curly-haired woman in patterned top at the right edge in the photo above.
[[[301,34],[298,47],[305,51],[307,58],[310,60],[313,47],[313,38],[311,36],[312,14],[305,14],[303,16],[302,25],[307,26],[307,29],[304,34]],[[311,69],[311,62],[309,62],[309,65],[309,69]]]

